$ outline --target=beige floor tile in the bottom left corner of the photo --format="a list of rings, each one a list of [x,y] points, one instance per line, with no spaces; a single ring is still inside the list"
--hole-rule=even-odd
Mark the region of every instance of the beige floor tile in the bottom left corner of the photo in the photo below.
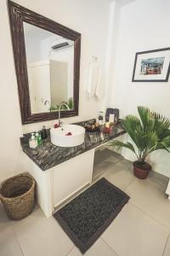
[[[23,256],[20,245],[12,230],[0,230],[0,255]]]

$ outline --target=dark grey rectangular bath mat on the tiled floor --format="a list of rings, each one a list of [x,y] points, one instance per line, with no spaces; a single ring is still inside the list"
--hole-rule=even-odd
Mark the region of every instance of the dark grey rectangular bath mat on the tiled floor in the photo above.
[[[129,196],[101,178],[65,207],[54,213],[60,226],[82,253],[111,224]]]

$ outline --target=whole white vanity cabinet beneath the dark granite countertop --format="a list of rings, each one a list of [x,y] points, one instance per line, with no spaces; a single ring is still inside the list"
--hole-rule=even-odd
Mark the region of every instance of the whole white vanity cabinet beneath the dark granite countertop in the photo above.
[[[126,135],[119,139],[126,139]],[[72,195],[77,195],[78,191],[92,183],[94,152],[104,144],[89,148],[82,154],[76,151],[77,155],[73,158],[63,159],[62,163],[46,171],[42,171],[30,157],[23,153],[26,171],[30,172],[37,182],[37,203],[47,218],[52,216],[55,208],[62,206]]]

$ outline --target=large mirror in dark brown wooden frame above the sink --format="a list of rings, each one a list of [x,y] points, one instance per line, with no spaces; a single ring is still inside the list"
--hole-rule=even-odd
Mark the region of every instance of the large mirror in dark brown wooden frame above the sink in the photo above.
[[[8,1],[22,124],[78,114],[81,34]]]

